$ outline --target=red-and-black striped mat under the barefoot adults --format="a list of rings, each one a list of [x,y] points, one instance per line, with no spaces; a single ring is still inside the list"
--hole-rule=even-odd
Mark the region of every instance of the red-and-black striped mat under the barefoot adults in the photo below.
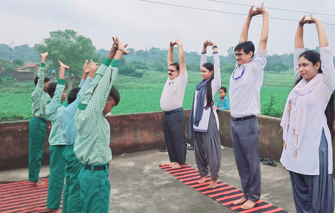
[[[259,200],[255,207],[252,209],[241,209],[241,205],[234,205],[234,201],[242,198],[243,192],[237,188],[234,188],[232,186],[229,186],[226,183],[222,183],[221,181],[217,182],[216,188],[208,188],[211,181],[211,177],[207,176],[206,181],[203,184],[199,184],[199,172],[198,170],[194,169],[190,165],[185,164],[180,169],[174,169],[169,167],[168,164],[164,164],[159,166],[162,170],[166,171],[173,177],[177,178],[184,184],[188,185],[189,187],[192,187],[196,191],[201,192],[202,194],[207,195],[208,197],[214,198],[219,203],[221,203],[223,206],[230,208],[231,210],[235,212],[240,213],[287,213],[287,211],[276,207],[272,204],[266,203],[262,200]]]

